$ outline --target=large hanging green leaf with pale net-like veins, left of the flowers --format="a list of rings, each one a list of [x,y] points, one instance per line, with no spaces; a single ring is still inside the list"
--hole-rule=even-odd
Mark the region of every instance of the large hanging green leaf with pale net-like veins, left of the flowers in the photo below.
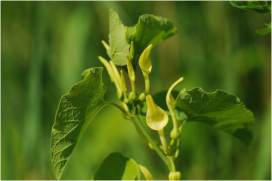
[[[82,133],[106,103],[102,67],[91,68],[84,80],[61,97],[51,134],[51,160],[59,180]]]

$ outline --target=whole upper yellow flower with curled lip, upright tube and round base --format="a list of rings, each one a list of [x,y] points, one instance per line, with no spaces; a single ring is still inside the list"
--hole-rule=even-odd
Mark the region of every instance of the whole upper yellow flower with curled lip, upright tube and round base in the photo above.
[[[145,101],[145,96],[148,95],[149,93],[149,76],[148,74],[151,72],[152,64],[151,64],[151,59],[150,59],[150,50],[153,47],[152,44],[150,44],[142,53],[139,59],[139,66],[142,70],[142,73],[145,78],[145,92],[141,93],[139,95],[139,100]]]

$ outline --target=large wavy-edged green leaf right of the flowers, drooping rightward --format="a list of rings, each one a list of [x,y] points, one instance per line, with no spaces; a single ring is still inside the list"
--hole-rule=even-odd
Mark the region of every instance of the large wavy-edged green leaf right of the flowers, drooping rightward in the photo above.
[[[199,121],[227,132],[249,145],[255,118],[237,96],[216,90],[205,93],[201,88],[183,89],[175,101],[175,108],[187,115],[187,121]]]

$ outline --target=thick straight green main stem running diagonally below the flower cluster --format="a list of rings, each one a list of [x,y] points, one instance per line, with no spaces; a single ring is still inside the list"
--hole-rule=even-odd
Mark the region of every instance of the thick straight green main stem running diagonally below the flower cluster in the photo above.
[[[169,159],[166,158],[166,156],[163,154],[163,152],[160,150],[158,145],[153,141],[151,136],[148,134],[147,130],[145,129],[144,125],[142,124],[140,118],[137,116],[133,116],[133,120],[136,122],[136,124],[139,126],[140,130],[142,131],[145,138],[149,141],[149,143],[153,146],[154,150],[158,153],[158,155],[161,157],[163,162],[168,166],[169,171],[172,171],[172,164],[169,161]]]

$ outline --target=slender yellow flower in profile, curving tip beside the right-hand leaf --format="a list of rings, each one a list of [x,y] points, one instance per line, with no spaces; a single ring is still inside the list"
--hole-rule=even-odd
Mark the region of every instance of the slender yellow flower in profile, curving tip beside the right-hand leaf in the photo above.
[[[177,121],[177,117],[176,117],[175,109],[174,109],[175,99],[172,96],[171,91],[182,80],[183,80],[183,77],[181,77],[173,85],[171,85],[171,87],[169,88],[169,90],[168,90],[168,92],[166,94],[166,104],[167,104],[167,107],[168,107],[168,109],[170,111],[170,114],[171,114],[171,117],[172,117],[172,120],[173,120],[173,129],[170,132],[170,136],[171,136],[172,139],[175,139],[175,140],[179,139],[181,134],[178,131],[178,121]]]

